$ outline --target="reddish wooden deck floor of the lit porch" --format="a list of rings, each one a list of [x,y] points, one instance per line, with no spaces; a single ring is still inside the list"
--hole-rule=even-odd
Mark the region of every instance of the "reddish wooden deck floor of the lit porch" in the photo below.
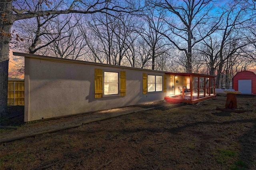
[[[164,100],[166,100],[166,102],[168,103],[190,103],[190,104],[195,104],[198,103],[200,101],[204,101],[207,99],[212,99],[215,98],[216,95],[210,95],[210,96],[206,96],[204,97],[203,95],[199,96],[199,99],[197,96],[193,96],[193,99],[190,99],[190,95],[184,96],[184,99],[182,99],[182,96],[180,95],[176,95],[174,97],[164,97]]]

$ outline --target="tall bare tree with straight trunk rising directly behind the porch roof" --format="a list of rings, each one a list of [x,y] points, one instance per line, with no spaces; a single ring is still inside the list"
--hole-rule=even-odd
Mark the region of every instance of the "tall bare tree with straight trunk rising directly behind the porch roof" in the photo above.
[[[170,14],[165,19],[168,29],[161,34],[176,48],[185,52],[188,73],[192,73],[192,48],[219,26],[220,19],[214,18],[211,13],[213,2],[213,0],[183,0],[183,2],[159,0],[154,3],[154,6],[168,10]]]

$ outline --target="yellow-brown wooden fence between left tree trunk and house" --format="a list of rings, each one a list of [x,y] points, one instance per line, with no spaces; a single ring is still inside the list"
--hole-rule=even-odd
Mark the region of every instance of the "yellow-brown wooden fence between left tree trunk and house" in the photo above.
[[[24,80],[8,81],[8,105],[24,105]]]

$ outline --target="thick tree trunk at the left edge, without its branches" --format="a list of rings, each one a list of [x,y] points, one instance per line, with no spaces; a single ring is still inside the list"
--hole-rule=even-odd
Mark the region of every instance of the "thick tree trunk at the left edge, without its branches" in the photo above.
[[[3,11],[10,11],[3,13]],[[7,94],[8,94],[8,66],[9,66],[9,43],[11,39],[12,0],[4,0],[0,3],[0,115],[8,113]]]

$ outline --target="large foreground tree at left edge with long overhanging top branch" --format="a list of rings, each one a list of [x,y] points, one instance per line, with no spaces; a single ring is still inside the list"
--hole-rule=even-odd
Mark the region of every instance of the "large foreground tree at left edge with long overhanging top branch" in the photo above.
[[[36,0],[34,0],[36,1]],[[27,2],[27,3],[26,3]],[[9,61],[9,43],[11,38],[12,24],[16,20],[34,18],[38,16],[48,16],[54,14],[94,14],[105,13],[108,11],[116,12],[134,12],[140,10],[140,4],[136,5],[125,0],[122,6],[116,0],[74,0],[70,6],[59,0],[60,8],[54,8],[53,4],[48,0],[38,0],[41,4],[48,6],[46,10],[31,12],[28,0],[13,1],[2,0],[0,2],[0,115],[6,114],[7,111],[7,91],[8,91],[8,61]],[[109,5],[106,5],[109,4]],[[134,10],[134,8],[136,9]]]

